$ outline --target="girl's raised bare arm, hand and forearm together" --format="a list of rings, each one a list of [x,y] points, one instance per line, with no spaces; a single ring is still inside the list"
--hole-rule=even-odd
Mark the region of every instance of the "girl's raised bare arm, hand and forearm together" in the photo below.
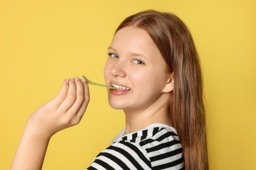
[[[84,78],[64,80],[58,95],[35,110],[28,119],[11,169],[41,169],[51,137],[80,122],[89,98]]]

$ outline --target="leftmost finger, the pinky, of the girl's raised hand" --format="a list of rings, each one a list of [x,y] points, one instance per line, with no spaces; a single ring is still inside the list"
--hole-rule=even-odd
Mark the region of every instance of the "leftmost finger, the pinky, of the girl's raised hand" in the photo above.
[[[53,99],[53,105],[55,105],[56,108],[60,106],[60,104],[66,99],[66,96],[68,94],[68,87],[69,87],[70,80],[66,79],[64,80],[62,84],[62,88],[60,89],[60,92],[58,92],[58,95],[56,95]]]

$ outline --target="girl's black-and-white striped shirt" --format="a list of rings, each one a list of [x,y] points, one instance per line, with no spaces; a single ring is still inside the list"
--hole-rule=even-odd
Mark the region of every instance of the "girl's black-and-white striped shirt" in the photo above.
[[[124,132],[96,156],[88,170],[184,169],[182,146],[173,127],[152,124],[135,133]]]

